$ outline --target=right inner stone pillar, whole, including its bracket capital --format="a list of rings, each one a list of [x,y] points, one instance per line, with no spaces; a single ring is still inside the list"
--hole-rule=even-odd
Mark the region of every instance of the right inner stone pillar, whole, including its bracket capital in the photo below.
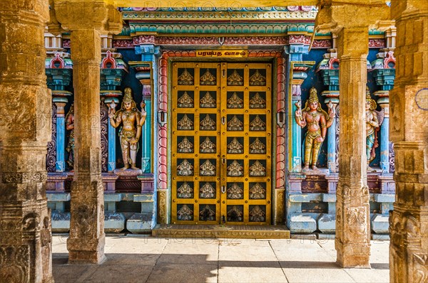
[[[365,5],[321,1],[316,31],[337,34],[340,60],[339,181],[337,183],[337,263],[370,267],[370,207],[365,154],[365,89],[369,26],[387,19],[384,1]]]

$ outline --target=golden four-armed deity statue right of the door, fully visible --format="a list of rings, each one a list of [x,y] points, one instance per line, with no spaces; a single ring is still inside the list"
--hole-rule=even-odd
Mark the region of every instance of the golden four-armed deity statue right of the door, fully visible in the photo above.
[[[305,137],[305,159],[303,168],[304,171],[312,166],[312,170],[317,170],[318,154],[322,142],[325,140],[327,128],[333,123],[335,117],[335,110],[330,102],[328,105],[328,114],[322,110],[320,102],[318,101],[317,90],[315,87],[310,89],[309,100],[306,101],[305,108],[300,109],[300,102],[296,102],[295,106],[295,120],[300,127],[307,126]]]

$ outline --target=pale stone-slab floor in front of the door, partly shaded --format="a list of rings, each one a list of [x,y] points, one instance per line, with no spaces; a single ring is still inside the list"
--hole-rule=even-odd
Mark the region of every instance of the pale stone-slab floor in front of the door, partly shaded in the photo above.
[[[56,282],[389,282],[389,242],[372,241],[372,269],[341,269],[334,240],[106,237],[102,265],[68,265],[54,236]]]

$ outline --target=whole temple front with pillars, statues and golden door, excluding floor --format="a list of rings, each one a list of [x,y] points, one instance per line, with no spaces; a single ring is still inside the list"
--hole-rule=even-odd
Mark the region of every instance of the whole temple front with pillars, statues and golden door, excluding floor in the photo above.
[[[70,264],[106,233],[333,237],[347,268],[390,240],[427,282],[428,2],[2,0],[0,31],[0,282],[53,282],[52,233]]]

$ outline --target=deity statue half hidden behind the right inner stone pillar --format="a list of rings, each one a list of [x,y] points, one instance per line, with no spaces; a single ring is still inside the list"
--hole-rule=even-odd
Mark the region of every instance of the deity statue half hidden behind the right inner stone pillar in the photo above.
[[[379,146],[377,142],[377,132],[384,119],[383,110],[376,111],[377,103],[370,96],[370,91],[366,91],[366,154],[367,154],[367,168],[370,162],[376,157],[374,149]]]

